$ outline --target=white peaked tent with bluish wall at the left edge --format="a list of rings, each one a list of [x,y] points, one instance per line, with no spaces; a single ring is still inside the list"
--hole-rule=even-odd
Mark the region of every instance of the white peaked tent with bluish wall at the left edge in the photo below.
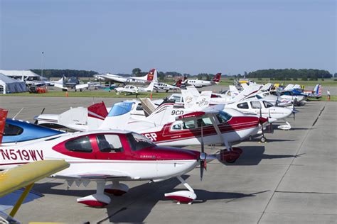
[[[0,73],[0,94],[12,94],[27,91],[25,82],[6,77]]]

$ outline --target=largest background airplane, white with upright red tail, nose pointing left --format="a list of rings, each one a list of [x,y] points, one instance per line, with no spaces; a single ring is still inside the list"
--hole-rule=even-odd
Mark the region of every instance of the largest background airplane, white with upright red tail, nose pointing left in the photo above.
[[[157,70],[151,69],[148,74],[146,74],[144,77],[122,77],[116,74],[97,74],[95,75],[96,79],[105,79],[105,81],[109,82],[119,82],[124,84],[129,83],[137,83],[137,84],[144,84],[147,82],[158,82],[157,77]]]

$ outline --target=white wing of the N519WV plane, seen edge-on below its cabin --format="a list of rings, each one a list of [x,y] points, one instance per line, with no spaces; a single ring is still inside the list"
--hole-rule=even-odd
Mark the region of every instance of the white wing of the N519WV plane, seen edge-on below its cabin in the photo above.
[[[102,170],[97,172],[84,172],[68,175],[54,175],[56,179],[79,179],[79,180],[97,180],[97,179],[118,179],[118,178],[130,178],[129,174],[119,171]]]

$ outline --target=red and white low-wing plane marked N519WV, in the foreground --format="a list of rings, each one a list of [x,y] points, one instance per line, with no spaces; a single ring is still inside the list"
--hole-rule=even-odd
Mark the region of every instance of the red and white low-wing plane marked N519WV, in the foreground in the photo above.
[[[7,111],[0,110],[0,133],[4,133]],[[203,138],[201,138],[203,139]],[[63,133],[30,142],[1,145],[0,169],[11,169],[21,164],[43,159],[65,159],[70,164],[51,177],[65,179],[68,186],[87,186],[97,183],[96,194],[78,198],[88,206],[106,206],[111,199],[107,194],[122,195],[128,191],[120,181],[164,181],[176,177],[188,191],[165,194],[178,203],[196,199],[191,186],[181,178],[200,165],[200,178],[206,168],[206,159],[231,160],[232,152],[206,155],[201,152],[172,147],[159,147],[143,135],[124,130],[96,130],[82,133]],[[112,184],[107,185],[107,182]]]

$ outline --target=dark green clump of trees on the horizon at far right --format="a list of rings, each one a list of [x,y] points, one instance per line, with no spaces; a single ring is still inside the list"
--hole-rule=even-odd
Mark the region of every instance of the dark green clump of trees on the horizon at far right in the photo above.
[[[271,78],[271,79],[321,79],[331,78],[332,74],[320,69],[262,69],[250,72],[247,78]]]

